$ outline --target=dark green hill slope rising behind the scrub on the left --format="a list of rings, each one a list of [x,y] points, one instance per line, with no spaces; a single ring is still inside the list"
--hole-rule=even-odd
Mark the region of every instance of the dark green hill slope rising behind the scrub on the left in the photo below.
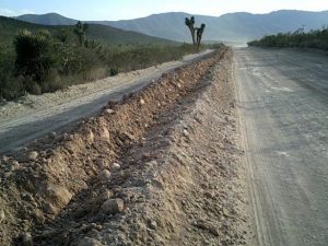
[[[75,23],[75,22],[74,22]],[[69,38],[75,38],[73,35],[73,26],[67,25],[38,25],[32,24],[23,21],[19,21],[11,17],[0,16],[0,45],[11,46],[14,36],[21,30],[36,31],[36,30],[48,30],[56,35],[61,30],[67,30],[69,33]],[[99,25],[99,24],[90,24],[86,32],[87,38],[95,39],[108,45],[147,45],[147,44],[172,44],[171,40],[161,39],[157,37],[148,36],[144,34],[122,31],[119,28]]]

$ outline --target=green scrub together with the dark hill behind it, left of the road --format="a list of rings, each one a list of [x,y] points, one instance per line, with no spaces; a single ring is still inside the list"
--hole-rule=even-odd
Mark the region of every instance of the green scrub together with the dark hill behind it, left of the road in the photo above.
[[[108,26],[44,26],[0,17],[0,99],[54,92],[195,51],[192,45]]]

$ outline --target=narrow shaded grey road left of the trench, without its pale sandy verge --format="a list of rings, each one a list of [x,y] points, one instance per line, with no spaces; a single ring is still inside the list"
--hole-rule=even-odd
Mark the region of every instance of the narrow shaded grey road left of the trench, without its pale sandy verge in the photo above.
[[[121,84],[101,95],[89,95],[78,98],[68,104],[60,104],[52,108],[37,112],[33,115],[14,118],[4,124],[0,124],[0,154],[10,153],[26,144],[26,142],[37,139],[50,131],[62,130],[66,126],[81,120],[84,117],[96,115],[109,99],[121,98],[124,94],[139,91],[150,84],[152,80],[157,80],[162,73],[172,71],[180,66],[191,63],[212,52],[207,50],[197,55],[189,55],[183,61],[175,62],[164,70],[157,69],[155,72],[147,74],[144,78]]]

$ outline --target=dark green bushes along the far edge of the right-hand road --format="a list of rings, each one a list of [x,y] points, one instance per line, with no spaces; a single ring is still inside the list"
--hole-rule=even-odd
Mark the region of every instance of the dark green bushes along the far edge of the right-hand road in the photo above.
[[[259,47],[300,47],[328,50],[328,27],[305,33],[303,28],[294,33],[279,33],[249,42],[248,46]]]

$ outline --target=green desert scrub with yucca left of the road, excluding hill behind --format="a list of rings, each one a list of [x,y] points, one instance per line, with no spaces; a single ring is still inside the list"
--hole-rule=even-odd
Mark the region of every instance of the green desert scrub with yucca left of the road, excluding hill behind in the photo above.
[[[3,48],[0,40],[0,98],[55,92],[198,51],[190,44],[101,44],[84,39],[86,30],[80,30],[79,35],[83,39],[81,45],[81,38],[74,38],[74,30],[77,26],[52,35],[45,30],[22,31],[14,37],[14,49]]]

